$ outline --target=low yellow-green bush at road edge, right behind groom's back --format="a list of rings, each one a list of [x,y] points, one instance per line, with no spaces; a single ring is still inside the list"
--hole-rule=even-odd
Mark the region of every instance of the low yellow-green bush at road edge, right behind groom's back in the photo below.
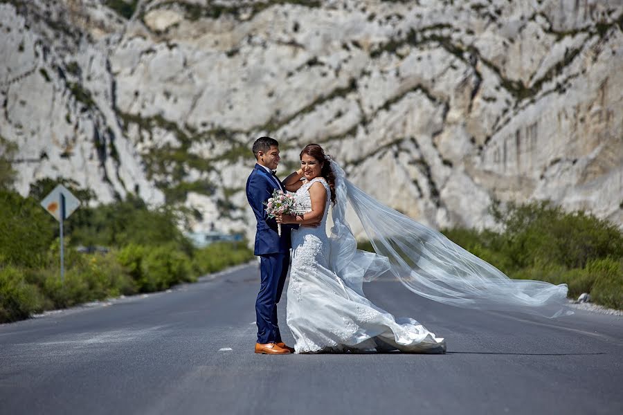
[[[217,242],[195,251],[192,266],[197,273],[203,275],[242,264],[252,258],[253,251],[247,247],[245,241]]]

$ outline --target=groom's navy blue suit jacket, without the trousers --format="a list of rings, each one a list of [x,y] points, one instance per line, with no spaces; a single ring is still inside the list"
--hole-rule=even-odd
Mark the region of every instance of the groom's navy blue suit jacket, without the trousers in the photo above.
[[[276,176],[272,176],[258,164],[246,180],[246,199],[258,221],[258,230],[255,232],[255,255],[288,254],[291,247],[291,229],[298,228],[298,225],[282,224],[281,237],[279,237],[277,221],[275,218],[268,218],[264,202],[273,195],[275,189],[279,188],[278,181]]]

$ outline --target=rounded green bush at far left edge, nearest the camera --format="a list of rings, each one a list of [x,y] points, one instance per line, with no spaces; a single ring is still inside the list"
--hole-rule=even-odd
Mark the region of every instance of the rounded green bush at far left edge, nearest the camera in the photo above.
[[[0,268],[0,322],[14,322],[42,311],[42,296],[28,284],[20,270]]]

